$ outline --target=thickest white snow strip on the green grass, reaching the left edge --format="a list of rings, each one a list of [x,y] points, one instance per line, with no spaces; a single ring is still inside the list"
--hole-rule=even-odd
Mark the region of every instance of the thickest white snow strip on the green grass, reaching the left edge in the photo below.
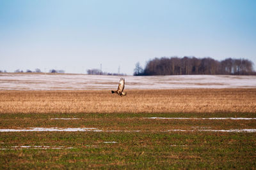
[[[58,127],[30,127],[28,129],[0,129],[0,132],[102,132],[97,128],[58,128]]]

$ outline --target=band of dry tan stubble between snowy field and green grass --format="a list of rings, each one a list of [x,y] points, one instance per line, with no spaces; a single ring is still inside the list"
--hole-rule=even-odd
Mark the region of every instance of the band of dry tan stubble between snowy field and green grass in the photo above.
[[[0,91],[0,113],[250,112],[256,89]]]

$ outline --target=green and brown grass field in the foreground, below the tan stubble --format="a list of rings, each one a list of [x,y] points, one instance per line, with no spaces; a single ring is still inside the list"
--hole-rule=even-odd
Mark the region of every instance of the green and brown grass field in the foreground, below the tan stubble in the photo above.
[[[147,117],[252,118],[256,115],[1,113],[0,129],[79,127],[100,131],[0,132],[0,169],[256,169],[255,132],[200,131],[256,129],[256,120],[160,120]]]

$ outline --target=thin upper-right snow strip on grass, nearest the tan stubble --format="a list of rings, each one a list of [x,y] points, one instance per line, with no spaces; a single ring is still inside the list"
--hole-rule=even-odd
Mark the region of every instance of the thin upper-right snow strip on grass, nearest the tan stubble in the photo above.
[[[187,118],[187,117],[145,117],[149,119],[202,119],[202,120],[256,120],[256,118],[243,118],[243,117],[211,117],[211,118]]]

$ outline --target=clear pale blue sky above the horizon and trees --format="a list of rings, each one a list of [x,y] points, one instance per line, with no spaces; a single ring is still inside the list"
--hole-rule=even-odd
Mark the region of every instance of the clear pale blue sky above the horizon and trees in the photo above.
[[[0,70],[132,75],[155,57],[249,59],[255,0],[0,0]]]

